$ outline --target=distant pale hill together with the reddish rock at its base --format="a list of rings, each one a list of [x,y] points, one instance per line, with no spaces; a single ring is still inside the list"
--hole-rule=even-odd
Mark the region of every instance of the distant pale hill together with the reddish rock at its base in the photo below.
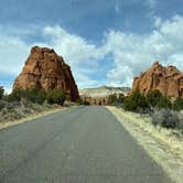
[[[104,106],[107,105],[108,96],[112,94],[127,95],[130,88],[128,87],[109,87],[101,86],[97,88],[85,88],[79,90],[83,100],[88,101],[89,105]]]

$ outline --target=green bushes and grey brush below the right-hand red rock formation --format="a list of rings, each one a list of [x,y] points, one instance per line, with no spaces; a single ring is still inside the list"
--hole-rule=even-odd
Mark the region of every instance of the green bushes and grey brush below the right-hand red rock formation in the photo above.
[[[120,106],[126,111],[132,111],[151,117],[153,126],[174,128],[183,130],[183,98],[172,100],[163,96],[158,89],[141,94],[139,90],[132,92],[130,96],[111,95],[108,105]]]

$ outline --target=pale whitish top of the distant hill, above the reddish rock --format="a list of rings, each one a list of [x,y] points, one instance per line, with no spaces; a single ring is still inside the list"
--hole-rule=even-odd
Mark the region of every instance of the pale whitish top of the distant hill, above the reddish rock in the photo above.
[[[96,88],[85,88],[79,89],[80,96],[88,96],[88,97],[106,97],[112,94],[125,94],[130,90],[129,87],[111,87],[111,86],[100,86]]]

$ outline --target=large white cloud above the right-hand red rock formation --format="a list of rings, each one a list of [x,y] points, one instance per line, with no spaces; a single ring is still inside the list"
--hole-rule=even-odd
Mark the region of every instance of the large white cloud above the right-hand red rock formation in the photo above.
[[[132,77],[154,61],[183,71],[183,17],[159,21],[149,34],[110,31],[105,47],[114,55],[115,67],[107,73],[108,83],[131,86]]]

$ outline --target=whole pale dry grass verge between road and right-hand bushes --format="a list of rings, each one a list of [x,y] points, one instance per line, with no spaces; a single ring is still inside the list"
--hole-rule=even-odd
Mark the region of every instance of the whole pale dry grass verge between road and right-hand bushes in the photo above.
[[[179,130],[154,127],[151,118],[107,107],[174,182],[183,183],[183,134]]]

